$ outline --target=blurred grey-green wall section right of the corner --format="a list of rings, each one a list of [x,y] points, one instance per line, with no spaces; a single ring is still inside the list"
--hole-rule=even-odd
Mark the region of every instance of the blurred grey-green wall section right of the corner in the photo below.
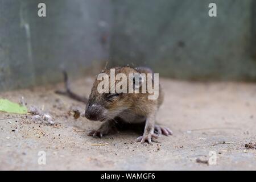
[[[150,65],[193,80],[256,80],[255,1],[112,2],[113,65]],[[208,16],[210,2],[216,18]]]

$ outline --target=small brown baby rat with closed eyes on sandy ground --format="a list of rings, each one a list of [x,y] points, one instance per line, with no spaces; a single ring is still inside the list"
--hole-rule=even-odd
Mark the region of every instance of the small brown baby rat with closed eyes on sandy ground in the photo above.
[[[129,73],[151,73],[154,72],[147,67],[132,68],[129,66],[115,67],[115,75],[123,73],[129,77]],[[110,69],[102,71],[110,77]],[[65,74],[64,74],[65,75]],[[151,77],[152,85],[154,87],[154,77]],[[139,89],[141,90],[141,79],[139,80]],[[65,75],[65,82],[67,82],[67,74]],[[138,123],[144,125],[143,135],[137,138],[137,142],[155,142],[155,139],[160,135],[172,135],[172,131],[168,127],[162,127],[155,124],[156,113],[163,103],[163,92],[159,84],[159,96],[155,100],[149,100],[150,93],[99,93],[98,84],[101,80],[96,80],[93,83],[89,98],[85,99],[76,96],[68,88],[66,94],[76,100],[86,102],[85,117],[91,121],[101,121],[102,125],[97,130],[92,130],[88,133],[92,137],[102,138],[116,129],[118,123]],[[128,82],[128,80],[127,80]],[[118,81],[115,80],[115,84]],[[135,84],[135,82],[133,83]],[[111,86],[110,86],[111,87]],[[75,97],[74,97],[75,96]]]

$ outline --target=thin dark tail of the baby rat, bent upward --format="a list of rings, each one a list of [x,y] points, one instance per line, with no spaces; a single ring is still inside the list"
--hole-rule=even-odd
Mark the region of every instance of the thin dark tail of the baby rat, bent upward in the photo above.
[[[61,94],[64,96],[68,96],[68,97],[72,98],[73,100],[76,100],[79,102],[84,102],[86,104],[88,101],[88,98],[82,97],[82,96],[77,95],[76,93],[73,93],[71,91],[71,89],[69,88],[68,73],[66,71],[63,71],[63,75],[64,75],[65,91],[56,90],[55,93]]]

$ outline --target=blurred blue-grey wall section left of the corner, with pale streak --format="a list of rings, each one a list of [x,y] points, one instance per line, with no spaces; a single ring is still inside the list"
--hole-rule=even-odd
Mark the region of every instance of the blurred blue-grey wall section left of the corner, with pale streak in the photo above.
[[[0,91],[92,72],[109,57],[109,31],[109,1],[0,0]]]

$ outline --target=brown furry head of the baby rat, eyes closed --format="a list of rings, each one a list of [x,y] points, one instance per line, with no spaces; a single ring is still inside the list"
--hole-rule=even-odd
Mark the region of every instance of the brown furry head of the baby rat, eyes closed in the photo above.
[[[127,76],[129,73],[137,73],[135,69],[130,67],[118,67],[114,68],[115,75],[118,73],[123,73]],[[98,85],[102,83],[102,80],[94,81],[92,92],[90,93],[88,103],[86,105],[85,117],[93,121],[105,121],[106,119],[113,119],[123,110],[129,109],[132,104],[131,98],[128,96],[128,93],[110,93],[110,70],[106,70],[103,73],[108,75],[108,93],[98,92]],[[119,82],[115,81],[115,85]],[[128,85],[128,80],[127,80]]]

